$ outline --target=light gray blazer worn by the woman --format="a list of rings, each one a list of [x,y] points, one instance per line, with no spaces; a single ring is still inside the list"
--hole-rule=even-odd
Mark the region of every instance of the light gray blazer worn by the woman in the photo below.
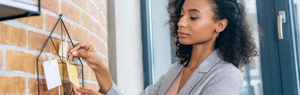
[[[243,86],[240,71],[213,51],[191,74],[178,95],[239,95]],[[140,95],[164,95],[177,78],[183,65],[175,62],[160,76],[154,85],[147,87]],[[106,95],[122,95],[112,83]]]

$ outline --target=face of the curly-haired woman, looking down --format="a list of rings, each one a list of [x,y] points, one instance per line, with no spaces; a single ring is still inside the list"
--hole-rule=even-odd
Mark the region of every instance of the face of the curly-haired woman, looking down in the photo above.
[[[185,0],[178,25],[179,42],[184,45],[214,42],[217,33],[214,13],[207,0]],[[220,31],[219,31],[220,32]]]

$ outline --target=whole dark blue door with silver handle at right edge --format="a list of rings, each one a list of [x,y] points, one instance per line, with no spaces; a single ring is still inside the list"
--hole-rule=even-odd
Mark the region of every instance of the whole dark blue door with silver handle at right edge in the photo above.
[[[299,0],[256,0],[264,95],[299,95]]]

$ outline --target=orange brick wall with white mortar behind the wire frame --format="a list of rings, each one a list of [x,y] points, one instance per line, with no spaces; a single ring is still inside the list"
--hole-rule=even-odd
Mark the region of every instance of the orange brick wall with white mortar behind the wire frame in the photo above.
[[[104,64],[108,66],[107,51],[107,0],[41,0],[39,16],[24,17],[0,22],[0,95],[37,95],[37,76],[45,82],[42,63],[36,70],[36,58],[50,31],[62,14],[62,20],[74,43],[91,41],[101,52]],[[61,39],[60,24],[52,36]],[[63,30],[63,32],[65,32]],[[66,33],[62,33],[66,35]],[[59,41],[53,40],[58,48]],[[48,60],[45,53],[52,53],[52,58],[60,62],[54,46],[49,42],[41,54],[40,60]],[[71,47],[71,44],[69,44]],[[70,49],[70,48],[69,48]],[[79,61],[73,61],[79,64]],[[98,90],[93,71],[84,64],[84,88]],[[70,83],[66,66],[58,64],[61,79]],[[81,66],[77,66],[78,71]],[[37,75],[37,72],[39,75]],[[62,75],[64,72],[64,75]],[[80,75],[79,82],[82,77]],[[41,95],[69,94],[71,86],[65,85],[47,91],[46,85],[40,85]]]

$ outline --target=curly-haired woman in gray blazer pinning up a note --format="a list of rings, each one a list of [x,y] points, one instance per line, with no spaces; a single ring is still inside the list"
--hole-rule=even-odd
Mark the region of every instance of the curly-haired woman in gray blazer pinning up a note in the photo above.
[[[239,69],[257,56],[244,6],[238,0],[170,0],[167,9],[179,61],[141,95],[239,95]],[[69,54],[75,60],[82,57],[94,71],[100,93],[121,95],[92,43],[78,43]],[[73,91],[102,95],[77,87]]]

